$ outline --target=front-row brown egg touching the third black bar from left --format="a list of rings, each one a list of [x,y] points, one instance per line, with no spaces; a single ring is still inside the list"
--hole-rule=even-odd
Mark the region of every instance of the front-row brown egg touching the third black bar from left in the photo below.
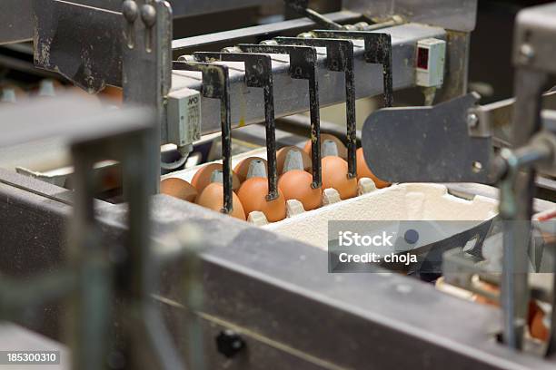
[[[313,189],[313,176],[304,170],[288,170],[278,180],[285,200],[299,200],[303,209],[317,209],[323,201],[323,189]]]

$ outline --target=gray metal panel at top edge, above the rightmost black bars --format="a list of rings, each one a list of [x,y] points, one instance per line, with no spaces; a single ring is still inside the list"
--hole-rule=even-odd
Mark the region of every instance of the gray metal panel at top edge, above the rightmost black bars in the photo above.
[[[471,32],[475,29],[477,0],[344,0],[345,8],[375,19],[400,15],[410,22]]]

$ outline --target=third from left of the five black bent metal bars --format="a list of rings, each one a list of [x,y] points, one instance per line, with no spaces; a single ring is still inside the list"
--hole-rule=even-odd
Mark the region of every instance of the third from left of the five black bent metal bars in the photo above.
[[[290,76],[293,79],[309,81],[309,111],[311,115],[311,142],[313,161],[313,189],[323,186],[321,163],[321,116],[319,106],[319,82],[316,73],[316,50],[309,46],[295,45],[237,45],[243,52],[265,54],[288,54],[290,56]]]

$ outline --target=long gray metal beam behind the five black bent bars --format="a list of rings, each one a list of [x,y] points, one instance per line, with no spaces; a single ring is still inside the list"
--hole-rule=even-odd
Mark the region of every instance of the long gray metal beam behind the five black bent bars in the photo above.
[[[436,37],[445,38],[442,28],[421,24],[402,24],[381,29],[377,32],[392,35],[392,69],[394,90],[415,85],[415,48],[419,40]],[[354,40],[355,47],[355,87],[357,98],[382,93],[382,67],[365,63],[362,40]],[[231,45],[232,46],[232,45]],[[305,112],[309,109],[309,89],[307,82],[293,80],[289,76],[287,55],[273,55],[274,109],[276,117]],[[345,102],[345,81],[343,73],[330,72],[325,68],[326,51],[319,48],[318,78],[321,107]],[[243,63],[224,63],[230,66],[232,124],[233,127],[264,121],[263,94],[244,83]],[[201,89],[201,74],[174,71],[173,90],[188,87]],[[203,133],[220,131],[220,107],[214,99],[202,99]]]

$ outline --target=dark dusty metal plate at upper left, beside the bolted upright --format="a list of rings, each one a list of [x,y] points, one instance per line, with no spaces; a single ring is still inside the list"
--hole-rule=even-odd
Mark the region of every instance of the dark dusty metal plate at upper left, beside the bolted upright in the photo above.
[[[122,15],[65,1],[34,2],[35,65],[91,92],[122,81]],[[106,55],[111,57],[107,58]]]

